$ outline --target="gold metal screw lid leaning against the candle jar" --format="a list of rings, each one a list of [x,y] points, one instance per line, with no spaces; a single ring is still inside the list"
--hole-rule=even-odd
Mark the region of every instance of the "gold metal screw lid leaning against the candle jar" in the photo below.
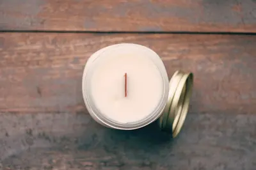
[[[168,101],[159,118],[159,126],[165,132],[176,137],[186,119],[189,99],[193,88],[193,73],[177,71],[170,80]]]

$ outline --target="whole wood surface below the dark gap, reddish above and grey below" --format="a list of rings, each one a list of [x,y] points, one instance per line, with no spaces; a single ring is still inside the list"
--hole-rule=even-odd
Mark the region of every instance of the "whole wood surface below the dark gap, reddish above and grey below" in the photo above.
[[[111,130],[95,123],[81,93],[96,50],[146,45],[195,73],[180,135]],[[0,169],[255,169],[256,36],[1,33]]]

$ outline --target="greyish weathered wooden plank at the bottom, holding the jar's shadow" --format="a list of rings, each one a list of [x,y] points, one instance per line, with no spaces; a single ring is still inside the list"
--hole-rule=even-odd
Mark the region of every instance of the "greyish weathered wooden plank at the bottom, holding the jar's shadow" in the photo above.
[[[190,112],[174,140],[154,125],[111,130],[88,114],[0,114],[0,121],[3,169],[254,170],[256,166],[256,114]]]

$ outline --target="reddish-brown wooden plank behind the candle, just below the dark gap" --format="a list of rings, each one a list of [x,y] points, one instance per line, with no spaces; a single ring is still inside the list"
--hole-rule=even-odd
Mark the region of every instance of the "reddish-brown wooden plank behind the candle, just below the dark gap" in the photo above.
[[[96,50],[131,42],[155,50],[169,77],[195,73],[192,112],[256,111],[256,36],[0,34],[0,112],[86,112],[81,79]]]

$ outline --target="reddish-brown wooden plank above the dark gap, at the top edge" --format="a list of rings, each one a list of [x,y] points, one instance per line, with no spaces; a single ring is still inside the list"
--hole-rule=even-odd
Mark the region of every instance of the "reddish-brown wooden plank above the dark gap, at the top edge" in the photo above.
[[[0,29],[256,33],[256,1],[1,0]]]

